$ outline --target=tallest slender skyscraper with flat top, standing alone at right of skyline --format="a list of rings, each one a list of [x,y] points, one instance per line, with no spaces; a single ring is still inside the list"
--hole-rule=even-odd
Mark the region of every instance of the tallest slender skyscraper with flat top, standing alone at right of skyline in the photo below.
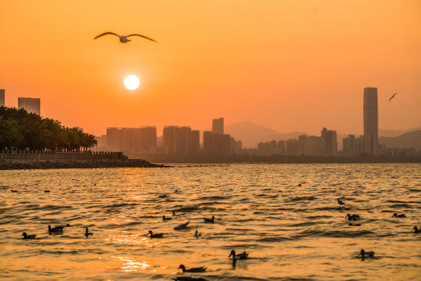
[[[378,143],[378,106],[377,88],[364,88],[364,141],[365,152],[377,154]]]

